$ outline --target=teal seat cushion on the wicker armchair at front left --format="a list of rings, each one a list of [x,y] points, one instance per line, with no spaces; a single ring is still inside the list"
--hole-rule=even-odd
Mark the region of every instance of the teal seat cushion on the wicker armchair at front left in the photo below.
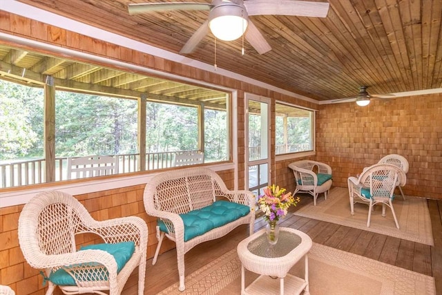
[[[115,261],[117,262],[117,272],[121,271],[128,262],[129,259],[131,259],[133,253],[135,252],[135,243],[134,242],[119,242],[117,244],[96,244],[96,245],[88,245],[84,247],[80,247],[79,251],[87,250],[87,249],[93,249],[93,250],[102,250],[108,252],[108,254],[111,254]],[[88,263],[88,265],[99,265],[99,263]],[[78,267],[79,265],[72,265],[69,267]],[[68,267],[67,267],[68,268]],[[89,274],[90,277],[88,277],[88,280],[102,280],[103,276],[100,276],[99,278],[95,278],[93,274]],[[106,278],[108,277],[108,274],[106,274]],[[68,274],[64,269],[58,269],[56,272],[52,272],[49,276],[49,280],[54,283],[55,285],[61,285],[61,286],[72,286],[76,285],[75,280],[70,274]]]

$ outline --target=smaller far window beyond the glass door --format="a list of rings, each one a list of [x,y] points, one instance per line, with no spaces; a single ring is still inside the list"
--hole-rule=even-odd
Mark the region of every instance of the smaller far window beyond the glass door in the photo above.
[[[276,155],[314,150],[314,111],[276,103]]]

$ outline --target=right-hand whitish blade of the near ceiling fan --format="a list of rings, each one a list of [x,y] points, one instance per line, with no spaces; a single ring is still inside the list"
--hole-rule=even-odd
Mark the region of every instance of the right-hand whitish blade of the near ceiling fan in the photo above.
[[[296,17],[327,17],[329,3],[294,0],[244,1],[248,15],[294,15]]]

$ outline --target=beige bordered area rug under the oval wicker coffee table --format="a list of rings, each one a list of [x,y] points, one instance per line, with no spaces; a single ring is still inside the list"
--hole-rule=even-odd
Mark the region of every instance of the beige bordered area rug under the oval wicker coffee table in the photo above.
[[[314,243],[308,257],[311,294],[436,294],[431,276],[363,256]],[[304,278],[303,259],[290,274]],[[247,286],[258,274],[246,271],[245,277]],[[189,274],[185,282],[184,292],[175,283],[158,294],[240,294],[241,263],[236,249]],[[263,290],[263,294],[268,293]]]

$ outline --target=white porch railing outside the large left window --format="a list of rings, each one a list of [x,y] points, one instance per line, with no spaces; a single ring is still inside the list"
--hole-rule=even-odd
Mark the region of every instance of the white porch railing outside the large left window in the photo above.
[[[182,152],[146,153],[146,170],[172,167],[174,156]],[[113,156],[119,158],[118,173],[138,171],[140,154],[128,153]],[[55,181],[68,179],[67,163],[67,157],[55,158]],[[43,158],[0,161],[0,189],[44,182],[46,182],[46,160]]]

